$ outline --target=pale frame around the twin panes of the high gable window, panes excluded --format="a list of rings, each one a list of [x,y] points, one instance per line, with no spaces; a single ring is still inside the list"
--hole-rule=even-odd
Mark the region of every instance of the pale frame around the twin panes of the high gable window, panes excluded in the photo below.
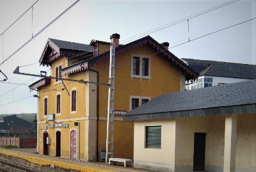
[[[133,74],[133,58],[137,57],[140,58],[140,75],[134,75]],[[143,58],[148,59],[148,76],[143,76],[142,75],[142,61]],[[151,56],[146,56],[143,54],[132,54],[131,56],[131,78],[140,78],[140,79],[148,79],[148,81],[151,80]]]

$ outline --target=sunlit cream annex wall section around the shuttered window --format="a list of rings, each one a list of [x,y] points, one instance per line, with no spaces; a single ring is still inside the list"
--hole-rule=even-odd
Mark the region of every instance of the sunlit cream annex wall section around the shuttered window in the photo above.
[[[161,125],[161,149],[145,148],[145,127]],[[140,121],[134,123],[134,167],[174,171],[175,120]]]

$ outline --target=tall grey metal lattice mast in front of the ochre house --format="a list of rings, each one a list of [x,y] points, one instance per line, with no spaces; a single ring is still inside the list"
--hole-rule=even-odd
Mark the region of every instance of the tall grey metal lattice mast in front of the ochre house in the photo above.
[[[108,87],[108,121],[106,138],[106,163],[108,164],[108,155],[113,157],[113,131],[114,131],[114,95],[115,95],[115,43],[111,43],[109,56],[109,87]],[[109,141],[109,134],[111,140]],[[110,151],[109,151],[110,146]]]

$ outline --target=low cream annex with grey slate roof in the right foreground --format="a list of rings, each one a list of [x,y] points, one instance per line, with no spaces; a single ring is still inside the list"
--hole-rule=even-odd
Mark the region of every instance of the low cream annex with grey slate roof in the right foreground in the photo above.
[[[126,113],[134,167],[256,171],[256,80],[160,95]]]

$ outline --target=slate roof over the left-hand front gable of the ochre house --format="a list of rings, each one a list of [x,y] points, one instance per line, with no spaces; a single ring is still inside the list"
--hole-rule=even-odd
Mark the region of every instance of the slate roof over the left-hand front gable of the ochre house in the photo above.
[[[76,50],[76,51],[93,51],[93,47],[83,43],[67,42],[49,38],[60,49]]]

